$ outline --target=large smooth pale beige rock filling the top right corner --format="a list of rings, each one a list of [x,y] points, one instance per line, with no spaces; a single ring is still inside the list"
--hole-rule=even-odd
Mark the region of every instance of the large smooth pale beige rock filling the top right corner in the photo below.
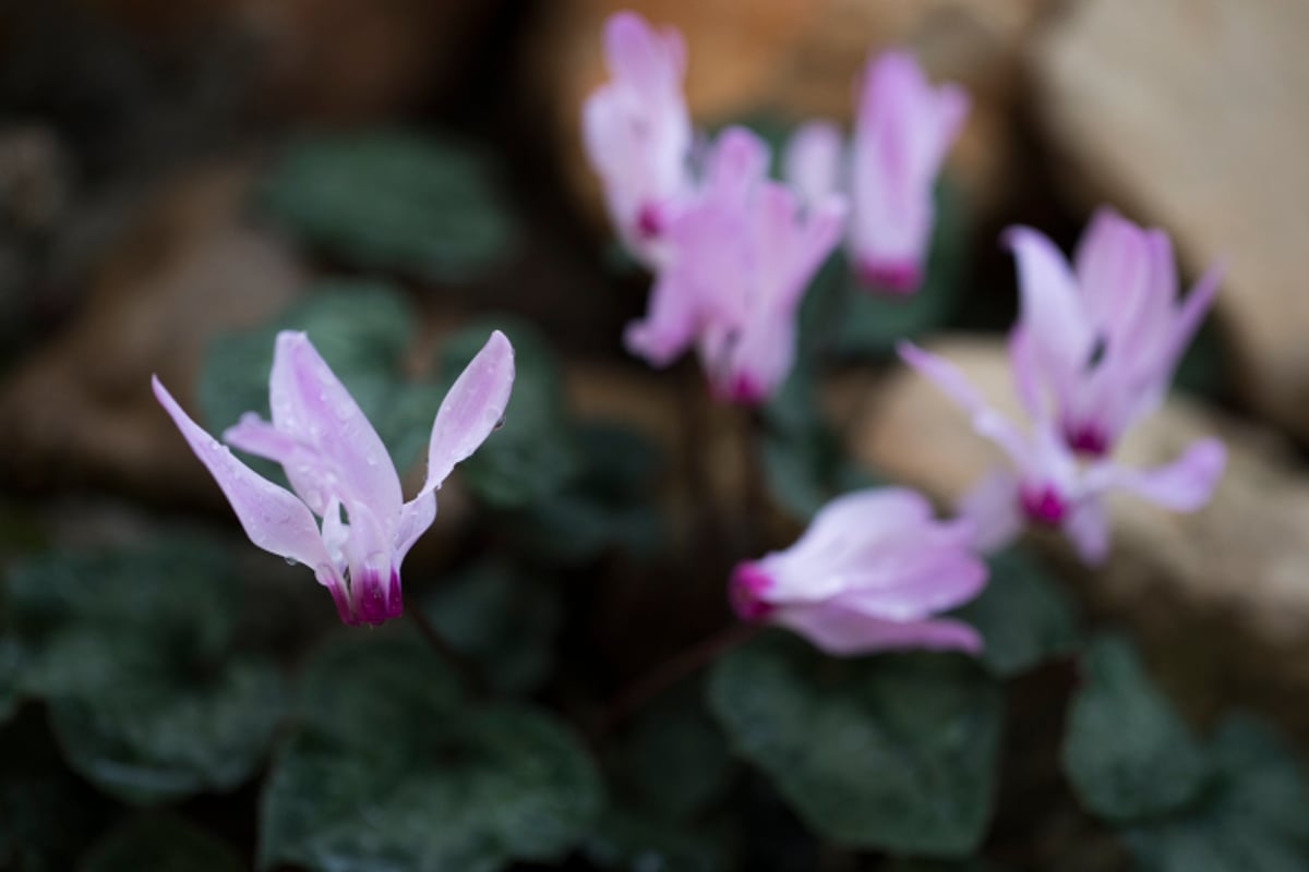
[[[1229,256],[1219,316],[1245,396],[1309,441],[1309,5],[1077,3],[1034,52],[1056,178],[1173,234],[1198,275]]]

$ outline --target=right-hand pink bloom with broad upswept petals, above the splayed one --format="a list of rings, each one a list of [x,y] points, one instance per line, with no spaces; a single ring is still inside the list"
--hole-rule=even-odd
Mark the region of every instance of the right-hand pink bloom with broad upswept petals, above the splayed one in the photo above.
[[[1221,271],[1178,299],[1168,235],[1109,208],[1096,213],[1073,265],[1029,227],[1005,239],[1022,302],[1009,340],[1018,396],[1030,414],[1056,418],[1071,448],[1105,455],[1161,401]]]

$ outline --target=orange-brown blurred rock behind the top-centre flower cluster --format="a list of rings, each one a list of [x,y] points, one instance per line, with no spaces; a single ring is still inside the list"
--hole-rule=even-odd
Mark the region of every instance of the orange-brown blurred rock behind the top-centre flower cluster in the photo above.
[[[568,184],[601,220],[598,186],[579,133],[581,102],[606,73],[603,20],[631,8],[675,25],[689,50],[687,98],[700,123],[767,110],[850,120],[855,82],[870,52],[908,44],[937,80],[963,84],[975,106],[952,169],[986,209],[1004,192],[1013,158],[1009,114],[1028,35],[1050,0],[560,0],[550,4],[528,65],[545,88]]]

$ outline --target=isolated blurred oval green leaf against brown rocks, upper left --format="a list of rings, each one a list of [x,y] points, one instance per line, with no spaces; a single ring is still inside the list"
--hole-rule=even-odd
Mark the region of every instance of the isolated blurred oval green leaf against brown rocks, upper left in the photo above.
[[[402,131],[306,137],[272,167],[262,204],[334,258],[457,282],[512,255],[514,226],[482,157]]]

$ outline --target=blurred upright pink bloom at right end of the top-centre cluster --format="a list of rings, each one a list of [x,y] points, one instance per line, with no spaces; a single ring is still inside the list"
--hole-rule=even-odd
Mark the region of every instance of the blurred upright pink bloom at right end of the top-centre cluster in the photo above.
[[[967,116],[957,85],[933,88],[907,51],[864,72],[850,166],[850,251],[869,288],[918,290],[932,239],[932,187]]]

